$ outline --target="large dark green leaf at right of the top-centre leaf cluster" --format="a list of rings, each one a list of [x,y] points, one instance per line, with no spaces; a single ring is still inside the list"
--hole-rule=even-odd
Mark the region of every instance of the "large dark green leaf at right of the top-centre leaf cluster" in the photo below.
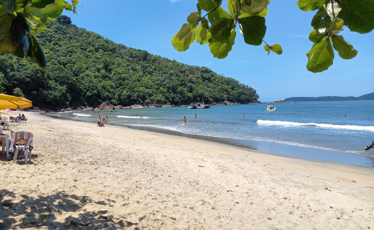
[[[255,46],[261,45],[266,33],[264,17],[253,15],[242,18],[240,19],[239,24],[245,43]]]

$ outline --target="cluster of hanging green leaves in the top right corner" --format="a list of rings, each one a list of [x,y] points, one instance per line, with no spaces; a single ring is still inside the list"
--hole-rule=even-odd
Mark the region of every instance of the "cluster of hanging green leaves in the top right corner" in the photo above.
[[[374,1],[372,0],[298,0],[301,10],[318,10],[313,16],[309,40],[315,43],[307,52],[309,71],[327,70],[334,61],[334,49],[343,59],[354,58],[358,51],[343,36],[347,26],[351,31],[369,33],[374,29]],[[332,44],[331,44],[332,43]]]

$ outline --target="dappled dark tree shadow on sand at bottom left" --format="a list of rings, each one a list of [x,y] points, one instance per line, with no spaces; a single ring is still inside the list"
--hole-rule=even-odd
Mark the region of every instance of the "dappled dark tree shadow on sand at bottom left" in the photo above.
[[[94,202],[88,196],[69,195],[65,191],[31,197],[3,189],[0,205],[1,230],[138,229],[138,223],[115,219],[107,210],[86,210],[86,205],[107,205],[105,200]]]

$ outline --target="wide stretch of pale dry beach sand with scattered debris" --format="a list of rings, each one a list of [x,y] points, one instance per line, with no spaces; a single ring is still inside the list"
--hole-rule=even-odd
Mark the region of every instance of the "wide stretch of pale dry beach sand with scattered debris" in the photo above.
[[[25,116],[10,128],[33,132],[32,160],[0,157],[0,229],[374,229],[372,168]]]

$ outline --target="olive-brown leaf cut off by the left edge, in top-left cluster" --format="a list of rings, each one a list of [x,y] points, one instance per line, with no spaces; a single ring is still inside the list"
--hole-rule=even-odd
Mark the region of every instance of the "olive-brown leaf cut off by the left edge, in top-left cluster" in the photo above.
[[[13,15],[0,16],[0,54],[12,53],[17,47],[12,31],[14,19]]]

